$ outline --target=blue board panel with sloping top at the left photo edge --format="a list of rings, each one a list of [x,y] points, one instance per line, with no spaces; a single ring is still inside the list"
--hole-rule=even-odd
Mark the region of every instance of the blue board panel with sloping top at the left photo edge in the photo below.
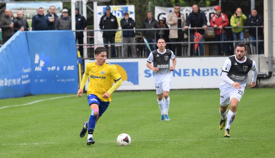
[[[17,31],[0,48],[0,99],[30,94],[31,62],[26,33]]]

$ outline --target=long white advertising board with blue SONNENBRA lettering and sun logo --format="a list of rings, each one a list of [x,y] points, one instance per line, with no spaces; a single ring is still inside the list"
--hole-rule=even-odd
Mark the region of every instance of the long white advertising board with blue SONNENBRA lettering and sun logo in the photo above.
[[[171,72],[171,89],[219,88],[226,58],[228,57],[177,58],[175,70]],[[95,60],[86,59],[85,69],[89,61]],[[115,64],[122,77],[123,84],[118,90],[155,90],[154,73],[146,66],[146,58],[107,59],[107,62]]]

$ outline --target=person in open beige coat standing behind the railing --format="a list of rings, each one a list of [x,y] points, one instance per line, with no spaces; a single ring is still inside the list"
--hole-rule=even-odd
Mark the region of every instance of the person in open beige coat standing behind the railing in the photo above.
[[[175,5],[174,12],[170,13],[167,18],[166,24],[170,25],[170,28],[183,28],[186,24],[184,15],[180,13],[180,5]],[[171,42],[182,42],[184,36],[184,30],[170,30],[169,38]],[[177,47],[177,53],[175,48]],[[172,44],[171,50],[176,56],[182,56],[181,44]]]

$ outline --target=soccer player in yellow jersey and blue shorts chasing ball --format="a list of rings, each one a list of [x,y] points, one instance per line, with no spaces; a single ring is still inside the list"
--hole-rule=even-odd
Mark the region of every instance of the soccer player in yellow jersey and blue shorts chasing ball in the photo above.
[[[82,96],[84,85],[89,78],[87,99],[92,114],[90,115],[89,121],[84,122],[80,132],[80,137],[84,137],[88,130],[87,145],[95,143],[93,140],[95,123],[107,110],[112,99],[112,93],[122,85],[121,76],[116,66],[106,62],[107,50],[105,47],[97,47],[95,49],[95,58],[95,62],[89,62],[86,65],[86,71],[83,74],[81,86],[76,96]],[[116,84],[112,86],[114,81],[116,81]]]

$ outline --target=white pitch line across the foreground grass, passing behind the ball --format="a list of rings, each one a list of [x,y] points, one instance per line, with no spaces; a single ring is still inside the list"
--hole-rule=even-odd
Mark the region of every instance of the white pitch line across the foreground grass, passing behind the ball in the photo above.
[[[150,141],[195,141],[195,140],[230,140],[230,139],[275,139],[275,137],[265,137],[265,138],[215,138],[215,139],[152,139],[152,140],[132,140],[133,142],[150,142]],[[99,140],[96,141],[99,143],[110,143],[110,142],[116,142],[116,140]],[[6,145],[46,145],[46,144],[62,144],[65,142],[48,142],[48,143],[18,143],[18,144],[0,144],[1,146]],[[80,143],[80,142],[78,142]]]

